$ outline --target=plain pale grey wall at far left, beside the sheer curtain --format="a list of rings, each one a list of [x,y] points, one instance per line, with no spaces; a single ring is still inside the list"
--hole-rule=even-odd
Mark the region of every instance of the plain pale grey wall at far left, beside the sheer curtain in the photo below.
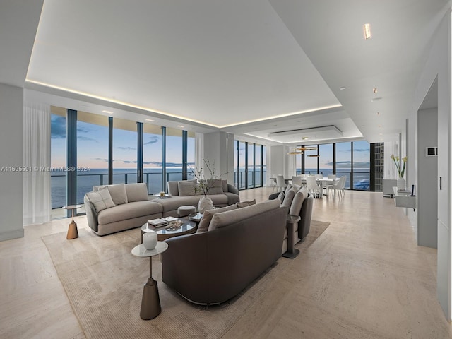
[[[23,237],[23,88],[0,83],[0,241]]]

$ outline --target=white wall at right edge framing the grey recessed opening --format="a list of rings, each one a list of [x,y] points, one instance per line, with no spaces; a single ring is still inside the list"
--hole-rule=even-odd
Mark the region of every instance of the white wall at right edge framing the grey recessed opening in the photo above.
[[[437,297],[446,319],[451,319],[451,13],[448,11],[434,35],[427,63],[422,70],[415,91],[415,112],[410,119],[417,121],[417,111],[438,77],[438,177],[442,177],[442,189],[438,190],[438,261]],[[410,124],[412,126],[412,124]],[[410,128],[408,143],[416,145],[416,131]],[[408,156],[416,158],[412,148]],[[415,169],[408,168],[411,178]],[[416,184],[421,180],[419,176]],[[417,184],[418,186],[418,184]],[[422,191],[417,192],[418,195]]]

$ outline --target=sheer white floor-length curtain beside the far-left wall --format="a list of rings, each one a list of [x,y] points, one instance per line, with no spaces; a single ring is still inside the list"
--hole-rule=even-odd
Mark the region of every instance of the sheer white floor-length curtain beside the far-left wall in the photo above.
[[[47,222],[52,218],[50,198],[50,106],[23,105],[23,222]]]

